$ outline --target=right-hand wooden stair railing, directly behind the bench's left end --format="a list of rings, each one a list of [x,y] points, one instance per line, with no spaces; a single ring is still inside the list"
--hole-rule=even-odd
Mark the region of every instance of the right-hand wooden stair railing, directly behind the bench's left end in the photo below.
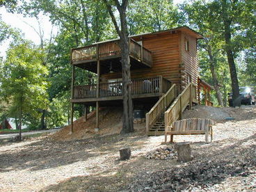
[[[170,126],[182,118],[182,112],[186,109],[186,106],[192,107],[193,100],[196,99],[196,87],[193,83],[189,83],[188,86],[177,96],[173,104],[164,113],[164,125],[165,125],[165,142],[167,141],[167,132],[171,128]]]

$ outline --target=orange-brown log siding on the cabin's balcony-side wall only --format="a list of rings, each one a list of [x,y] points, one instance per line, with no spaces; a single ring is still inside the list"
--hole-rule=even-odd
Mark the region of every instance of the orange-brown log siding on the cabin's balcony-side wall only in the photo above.
[[[180,68],[180,38],[181,32],[159,34],[150,38],[143,38],[143,47],[152,51],[153,65],[148,69],[132,70],[131,78],[147,78],[162,77],[176,83],[180,86],[181,83],[181,68]],[[108,79],[122,78],[122,74],[102,74],[102,81]]]

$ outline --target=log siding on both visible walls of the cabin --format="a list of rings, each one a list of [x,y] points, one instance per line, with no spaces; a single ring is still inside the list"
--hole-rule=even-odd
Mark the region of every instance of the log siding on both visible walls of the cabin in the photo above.
[[[189,41],[189,51],[185,50],[185,39]],[[143,38],[142,43],[143,47],[152,51],[153,64],[151,68],[132,70],[132,79],[161,75],[177,84],[178,93],[181,93],[189,83],[189,77],[192,83],[198,84],[197,40],[195,37],[182,31],[175,31]],[[120,78],[122,78],[120,72],[102,74],[101,81]]]

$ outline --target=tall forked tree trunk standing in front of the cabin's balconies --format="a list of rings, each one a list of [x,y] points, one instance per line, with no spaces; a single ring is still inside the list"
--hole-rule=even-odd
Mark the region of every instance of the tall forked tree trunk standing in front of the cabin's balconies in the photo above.
[[[104,0],[109,15],[115,26],[115,30],[120,37],[121,48],[121,63],[122,63],[122,95],[123,95],[123,125],[121,134],[127,134],[134,131],[133,122],[133,104],[131,99],[131,72],[130,72],[130,58],[129,58],[129,38],[127,29],[127,6],[128,0],[122,0],[121,3],[118,0],[107,1]],[[112,4],[118,10],[120,18],[120,26],[114,15]]]

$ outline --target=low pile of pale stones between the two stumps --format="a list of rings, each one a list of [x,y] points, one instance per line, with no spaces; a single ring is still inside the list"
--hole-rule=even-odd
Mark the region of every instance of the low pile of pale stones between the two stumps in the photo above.
[[[175,159],[177,158],[177,152],[172,147],[160,147],[157,150],[148,152],[145,156],[147,159]]]

